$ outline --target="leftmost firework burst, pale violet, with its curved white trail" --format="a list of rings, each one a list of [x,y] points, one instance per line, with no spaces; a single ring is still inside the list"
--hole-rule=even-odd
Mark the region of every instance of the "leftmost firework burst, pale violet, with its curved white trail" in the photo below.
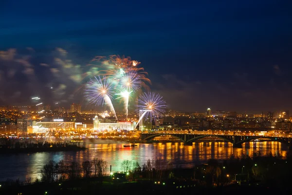
[[[87,100],[95,105],[106,105],[110,108],[110,111],[114,114],[117,119],[115,110],[113,108],[111,99],[114,93],[113,84],[104,76],[103,79],[100,77],[95,79],[90,79],[90,81],[85,85],[85,97]]]

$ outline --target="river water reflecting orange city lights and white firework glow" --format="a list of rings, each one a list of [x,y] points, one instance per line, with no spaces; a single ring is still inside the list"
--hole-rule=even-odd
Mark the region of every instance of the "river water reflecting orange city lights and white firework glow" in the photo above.
[[[88,144],[85,151],[78,152],[39,152],[16,155],[0,155],[0,181],[7,178],[25,181],[27,178],[40,178],[42,167],[50,160],[66,162],[103,158],[112,166],[112,171],[121,171],[123,160],[138,161],[141,165],[147,159],[159,158],[173,165],[194,165],[207,162],[210,158],[222,161],[233,154],[252,156],[255,152],[262,155],[269,153],[287,156],[288,148],[279,142],[247,142],[242,148],[233,148],[226,142],[196,142],[192,146],[183,143],[137,143],[137,147],[123,147],[123,143]]]

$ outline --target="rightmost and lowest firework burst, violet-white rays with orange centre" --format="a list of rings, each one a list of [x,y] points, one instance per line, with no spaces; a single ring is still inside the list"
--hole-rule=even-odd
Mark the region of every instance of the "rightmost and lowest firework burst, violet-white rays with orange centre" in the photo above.
[[[140,111],[151,111],[145,112],[145,118],[150,117],[150,121],[152,117],[156,120],[159,117],[163,117],[163,114],[166,109],[165,101],[159,94],[155,93],[144,93],[139,96],[138,98],[138,105],[136,112],[139,113]]]

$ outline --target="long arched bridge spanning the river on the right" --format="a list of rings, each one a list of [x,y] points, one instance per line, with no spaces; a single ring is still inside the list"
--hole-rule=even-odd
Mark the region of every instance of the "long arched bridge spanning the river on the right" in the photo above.
[[[185,145],[191,145],[193,141],[201,139],[203,137],[218,137],[227,142],[231,142],[233,147],[241,148],[241,144],[244,142],[249,142],[254,139],[269,139],[268,141],[278,141],[289,146],[292,149],[292,138],[291,137],[270,137],[270,136],[238,136],[238,135],[207,135],[207,134],[166,134],[166,133],[141,133],[140,138],[144,141],[150,140],[158,136],[172,136],[183,141]]]

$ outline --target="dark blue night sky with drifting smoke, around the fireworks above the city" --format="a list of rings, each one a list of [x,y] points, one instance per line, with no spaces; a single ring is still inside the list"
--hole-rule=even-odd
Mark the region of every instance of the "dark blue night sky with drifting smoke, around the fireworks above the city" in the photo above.
[[[1,0],[0,104],[90,108],[82,67],[115,54],[140,61],[170,109],[292,110],[291,0],[174,2]]]

